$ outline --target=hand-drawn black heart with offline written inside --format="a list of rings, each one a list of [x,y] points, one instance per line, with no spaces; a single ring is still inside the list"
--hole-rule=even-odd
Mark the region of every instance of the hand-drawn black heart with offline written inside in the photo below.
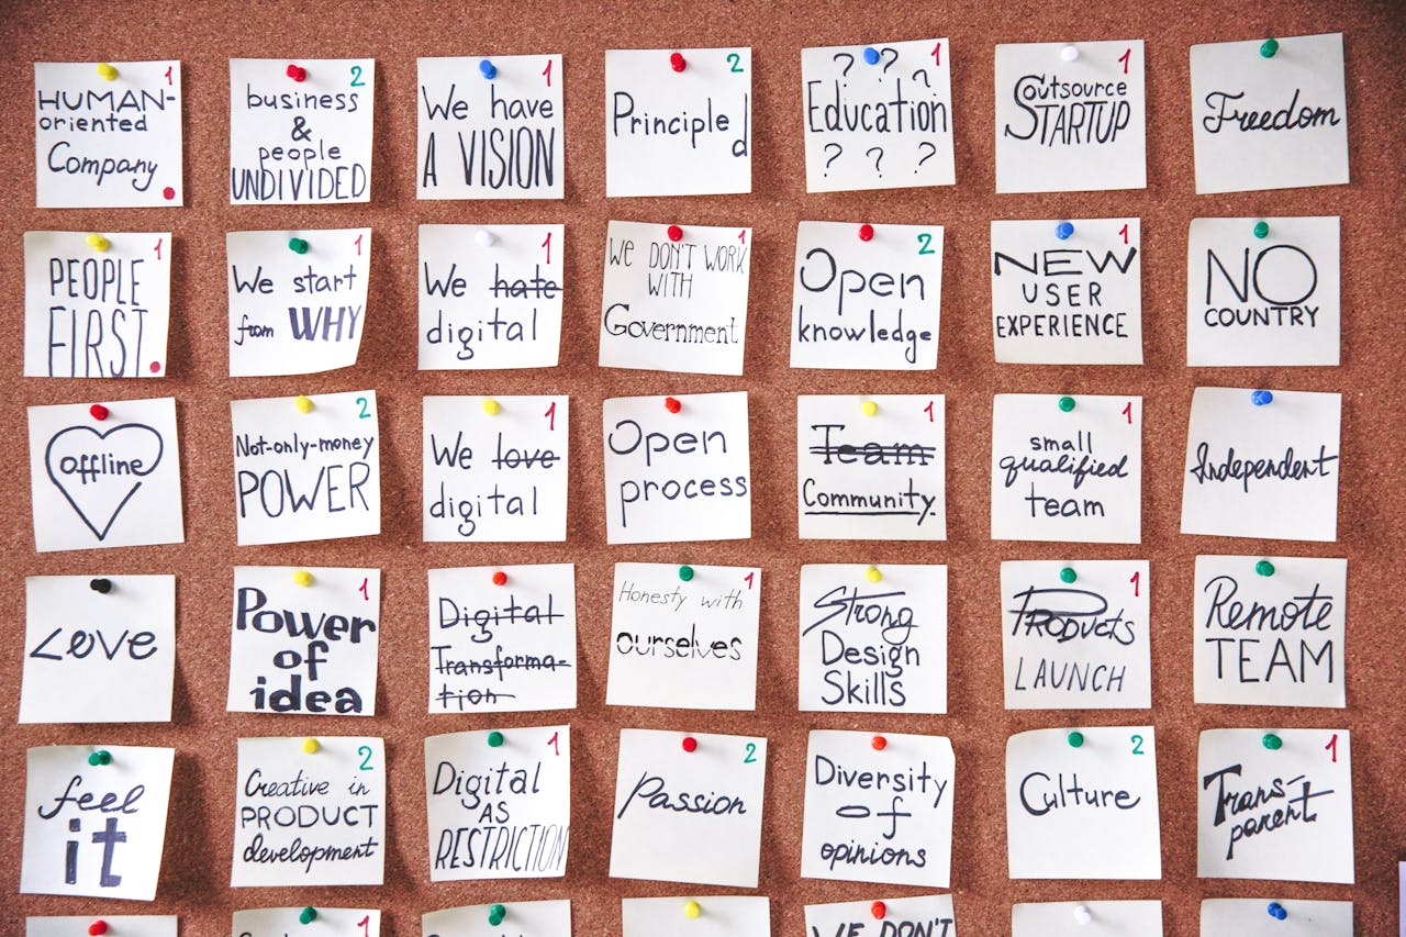
[[[122,423],[105,433],[69,426],[49,440],[44,464],[87,529],[104,540],[165,450],[162,435],[146,423]]]

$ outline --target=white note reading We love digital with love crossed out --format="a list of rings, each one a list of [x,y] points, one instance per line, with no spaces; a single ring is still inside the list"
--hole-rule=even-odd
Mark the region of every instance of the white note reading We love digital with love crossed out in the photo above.
[[[567,397],[426,397],[425,540],[567,539]]]

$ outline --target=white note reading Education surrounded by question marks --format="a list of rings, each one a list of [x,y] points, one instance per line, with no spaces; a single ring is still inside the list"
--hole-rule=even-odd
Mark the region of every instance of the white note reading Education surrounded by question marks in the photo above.
[[[952,46],[943,39],[800,51],[806,191],[952,186]]]

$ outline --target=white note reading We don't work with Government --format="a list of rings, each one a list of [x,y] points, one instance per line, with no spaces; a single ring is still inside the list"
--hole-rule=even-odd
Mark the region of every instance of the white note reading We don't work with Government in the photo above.
[[[741,374],[751,241],[751,228],[612,221],[600,367]]]

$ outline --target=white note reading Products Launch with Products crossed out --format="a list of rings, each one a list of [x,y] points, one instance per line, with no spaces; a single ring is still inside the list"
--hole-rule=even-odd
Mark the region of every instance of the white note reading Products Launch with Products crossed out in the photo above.
[[[1147,560],[1001,563],[1005,708],[1150,709],[1150,591]]]

